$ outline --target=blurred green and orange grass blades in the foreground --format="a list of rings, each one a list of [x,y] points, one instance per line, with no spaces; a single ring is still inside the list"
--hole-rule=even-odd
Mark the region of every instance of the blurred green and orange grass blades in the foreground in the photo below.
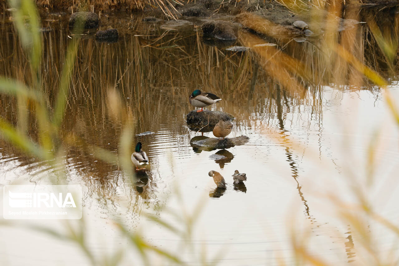
[[[10,3],[10,5],[14,7],[12,3]],[[314,6],[320,8],[320,5],[320,3],[314,3],[310,6],[307,6],[307,8],[314,8]],[[63,129],[65,115],[68,115],[68,113],[65,112],[65,109],[68,108],[68,101],[71,100],[71,98],[74,99],[73,95],[71,96],[71,94],[76,93],[74,90],[83,91],[84,89],[87,89],[84,86],[79,87],[71,85],[76,83],[76,76],[74,73],[76,75],[81,75],[80,71],[77,71],[77,73],[75,71],[75,67],[78,65],[77,53],[79,39],[71,40],[68,44],[68,48],[65,50],[63,69],[58,75],[59,82],[55,83],[58,85],[57,89],[54,89],[54,87],[51,88],[53,91],[57,91],[57,95],[55,96],[55,100],[51,101],[48,97],[50,88],[43,86],[42,37],[39,33],[40,21],[38,18],[38,13],[33,2],[30,0],[21,0],[20,6],[18,6],[17,10],[14,12],[14,17],[14,25],[18,30],[20,42],[23,46],[24,54],[27,56],[29,63],[27,70],[28,75],[26,75],[27,73],[21,74],[23,77],[21,79],[24,79],[28,82],[23,83],[21,79],[17,80],[9,79],[8,77],[4,76],[0,77],[1,92],[4,95],[7,95],[7,97],[15,98],[17,101],[16,119],[8,120],[4,117],[0,117],[1,137],[29,156],[45,161],[50,166],[53,165],[55,167],[63,165],[63,153],[65,153],[67,147],[74,145],[75,143],[83,143],[83,146],[85,146],[83,138],[78,139],[75,135],[66,132],[65,129]],[[28,24],[28,26],[26,24]],[[396,75],[397,44],[399,43],[397,24],[395,24],[394,27],[384,28],[381,30],[377,24],[373,24],[371,22],[369,23],[369,28],[367,30],[369,32],[365,32],[364,34],[371,34],[371,36],[373,36],[372,40],[379,47],[379,51],[375,52],[374,55],[382,54],[383,60],[387,65],[387,71],[395,72]],[[370,61],[367,61],[365,58],[359,59],[359,57],[352,54],[351,48],[353,48],[354,45],[360,46],[360,44],[357,42],[356,38],[353,38],[353,35],[351,35],[350,32],[342,34],[339,40],[338,38],[334,38],[331,35],[326,34],[324,36],[325,39],[322,40],[323,44],[325,44],[323,48],[324,50],[315,55],[314,47],[311,44],[308,44],[307,47],[309,51],[306,53],[307,56],[302,54],[302,56],[304,56],[303,58],[294,58],[294,56],[282,53],[273,46],[256,48],[255,45],[262,43],[263,40],[251,34],[241,33],[240,41],[246,46],[253,47],[253,54],[251,56],[253,56],[252,59],[257,62],[256,66],[253,65],[252,60],[249,60],[249,58],[245,56],[243,56],[238,62],[233,62],[233,60],[231,60],[231,58],[229,58],[227,55],[220,55],[222,52],[217,50],[217,48],[209,48],[208,46],[203,45],[200,42],[198,34],[196,37],[198,55],[195,60],[190,58],[190,56],[187,56],[187,61],[185,61],[185,63],[196,64],[196,62],[199,62],[198,68],[201,69],[200,73],[208,73],[208,81],[213,87],[222,87],[222,89],[228,89],[229,87],[243,86],[243,83],[249,83],[249,73],[253,71],[252,69],[260,66],[265,71],[271,73],[275,79],[273,81],[275,83],[275,87],[271,88],[269,93],[270,95],[273,95],[273,97],[278,97],[279,99],[279,103],[276,103],[277,106],[273,106],[273,108],[276,108],[276,112],[278,113],[279,108],[281,108],[279,106],[281,97],[286,98],[288,95],[288,97],[292,96],[293,100],[301,101],[303,99],[304,91],[310,87],[309,84],[313,83],[312,85],[317,87],[318,84],[323,83],[346,84],[349,81],[352,82],[352,84],[362,85],[364,82],[369,82],[383,90],[385,100],[391,107],[390,110],[392,116],[399,126],[399,114],[397,111],[396,101],[391,97],[389,89],[387,89],[388,83],[386,78],[383,77],[383,73],[385,72],[379,71],[377,68],[372,69],[371,66],[366,64],[366,62]],[[162,41],[162,38],[159,38],[158,40]],[[136,58],[138,58],[138,64],[135,64],[134,68],[134,75],[125,75],[125,73],[121,74],[120,79],[115,82],[115,85],[116,83],[123,82],[125,86],[126,83],[138,84],[138,90],[135,91],[136,93],[139,93],[140,89],[146,86],[146,81],[144,78],[145,72],[143,69],[149,64],[149,59],[147,58],[148,55],[146,55],[146,50],[144,50],[144,47],[166,46],[169,48],[180,49],[180,46],[174,44],[174,39],[172,39],[172,41],[168,41],[166,44],[162,43],[161,45],[157,43],[158,40],[155,40],[151,44],[142,44],[137,41],[134,46],[136,49],[133,51],[133,53],[137,56]],[[333,40],[333,42],[330,40]],[[282,42],[284,42],[284,40]],[[289,46],[289,42],[286,43],[286,46]],[[292,49],[295,50],[295,48]],[[162,53],[163,52],[164,51],[162,51]],[[161,56],[162,53],[160,54]],[[336,62],[332,62],[331,57],[325,56],[332,53],[334,53],[337,57]],[[296,55],[297,54],[298,53],[296,53]],[[309,54],[314,57],[310,58],[308,56]],[[362,55],[364,54],[365,53]],[[227,69],[233,69],[229,71],[229,73],[233,73],[232,79],[228,79],[227,76],[218,76],[217,74],[212,73],[213,66],[211,67],[211,58],[213,56],[216,56],[218,59],[219,56],[220,58],[223,58],[223,61],[217,61],[218,66],[220,64]],[[314,62],[316,62],[316,64],[310,64]],[[130,62],[130,64],[132,63]],[[309,66],[312,66],[313,68],[308,68]],[[167,69],[170,69],[168,64],[165,64],[162,67],[163,68],[156,69],[156,71],[151,72],[162,72],[166,73],[167,75],[170,74],[172,77],[172,71],[167,71]],[[333,73],[328,77],[322,74],[323,68],[325,71],[326,67],[330,68],[329,71],[327,71],[328,73]],[[111,72],[111,69],[107,69],[106,66],[104,66],[102,70],[103,71],[98,72],[102,72],[105,75]],[[173,75],[176,73],[179,75],[187,75],[184,69],[177,69],[173,72]],[[345,75],[340,74],[343,72]],[[312,76],[310,73],[315,73],[315,75],[313,75],[313,79],[306,79],[306,77]],[[334,73],[337,73],[337,75],[334,75]],[[55,73],[53,74],[55,75]],[[201,74],[198,73],[191,73],[191,75],[199,75],[199,80],[203,78]],[[80,76],[78,76],[77,79],[79,79],[79,77]],[[252,77],[254,77],[254,74]],[[367,81],[365,81],[365,79]],[[287,80],[291,82],[287,82]],[[204,84],[207,82],[203,81]],[[112,84],[112,82],[109,83]],[[96,90],[95,87],[91,89]],[[320,87],[318,89],[320,89]],[[108,91],[98,90],[97,93],[103,96],[103,99],[107,99],[107,105],[110,106],[110,108],[107,110],[109,112],[109,116],[112,117],[115,123],[121,124],[122,132],[120,133],[120,139],[118,141],[118,153],[115,155],[115,153],[110,153],[109,150],[103,147],[93,147],[90,145],[87,145],[86,147],[88,147],[91,151],[95,151],[94,156],[96,158],[101,159],[109,164],[117,164],[127,176],[134,179],[135,177],[134,173],[132,172],[130,162],[130,154],[132,152],[131,145],[126,145],[126,143],[131,142],[136,126],[133,120],[135,117],[139,116],[140,113],[132,113],[131,110],[128,110],[121,102],[119,93],[114,90],[112,86]],[[240,92],[235,91],[234,93]],[[253,88],[251,87],[251,93],[257,95],[257,93],[261,94],[263,91],[257,91],[254,86]],[[312,91],[312,93],[316,95],[317,90],[315,89]],[[74,100],[78,101],[79,99]],[[140,103],[138,102],[136,104]],[[317,107],[318,106],[315,105],[315,108]],[[272,105],[270,105],[270,108],[272,109]],[[29,115],[31,113],[34,114],[34,121],[36,121],[37,125],[36,134],[34,134],[35,137],[32,137],[32,134],[30,134],[31,118]],[[275,138],[276,142],[283,140],[283,137],[277,131],[276,134],[273,134],[270,137]],[[292,145],[296,147],[300,146],[298,143],[293,143]],[[374,161],[374,150],[375,143],[371,142],[367,154],[370,166],[368,168],[368,178],[370,184],[373,183],[372,179],[374,178],[372,168]],[[172,159],[170,159],[170,163],[173,163]],[[60,173],[63,173],[63,171],[63,169],[59,170]],[[351,205],[349,208],[345,202],[342,202],[340,199],[334,197],[334,195],[329,195],[329,199],[336,206],[338,212],[340,213],[342,222],[352,224],[352,230],[357,234],[364,236],[364,241],[359,243],[362,245],[362,248],[367,251],[367,253],[363,254],[363,260],[360,261],[367,261],[372,265],[397,264],[396,260],[392,258],[383,258],[379,255],[379,253],[373,247],[373,242],[371,242],[370,238],[368,237],[368,228],[365,226],[365,224],[367,224],[369,220],[375,220],[376,222],[379,222],[381,225],[385,226],[385,228],[388,230],[391,230],[391,232],[395,234],[396,238],[399,240],[398,226],[379,216],[377,212],[371,209],[371,204],[367,200],[366,193],[359,189],[362,187],[362,185],[356,184],[354,180],[350,180],[350,175],[348,175],[348,179],[348,183],[352,187],[353,193],[356,195],[356,199],[358,201],[356,206]],[[65,180],[65,175],[57,175],[57,179],[54,179],[54,183],[66,184],[67,181]],[[176,194],[174,197],[180,197],[178,189],[176,189]],[[176,216],[176,220],[179,221],[176,223],[178,224],[177,226],[169,224],[168,222],[161,220],[154,215],[143,215],[147,215],[149,220],[152,220],[161,226],[163,230],[170,231],[179,236],[182,239],[182,242],[186,243],[187,248],[190,249],[192,248],[190,245],[192,245],[191,237],[193,226],[195,226],[195,223],[198,220],[202,207],[202,202],[199,202],[198,205],[190,212],[186,210],[179,210],[180,215],[174,214]],[[87,244],[85,222],[86,221],[84,219],[78,221],[77,224],[64,221],[64,224],[68,229],[66,233],[50,230],[44,226],[28,227],[39,232],[50,234],[58,239],[75,242],[81,248],[82,252],[87,256],[92,265],[120,264],[123,256],[122,251],[117,251],[110,257],[95,257],[90,246]],[[131,232],[131,230],[126,228],[123,222],[119,220],[115,220],[115,224],[117,228],[119,228],[121,234],[130,242],[131,246],[141,255],[140,258],[143,264],[151,265],[152,260],[150,259],[150,256],[154,256],[153,254],[156,254],[160,258],[164,258],[166,261],[165,264],[185,264],[183,259],[180,258],[180,254],[171,254],[152,244],[149,244],[146,241],[145,233]],[[2,222],[2,226],[12,226],[12,224],[8,222]],[[328,261],[325,261],[324,258],[319,258],[310,252],[308,246],[306,245],[306,237],[307,236],[304,231],[298,232],[296,228],[292,228],[291,244],[294,250],[296,263],[298,265],[331,265]],[[206,258],[206,256],[198,256],[198,258],[195,259],[198,260],[199,264],[207,265],[209,258]],[[214,261],[216,264],[217,259],[219,258],[214,258],[211,261]],[[280,264],[286,265],[284,260],[282,260]]]

